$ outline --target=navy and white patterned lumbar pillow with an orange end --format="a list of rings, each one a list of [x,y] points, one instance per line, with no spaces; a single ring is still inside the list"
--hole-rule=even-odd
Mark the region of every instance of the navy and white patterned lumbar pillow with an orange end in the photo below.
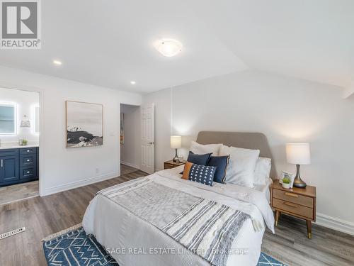
[[[217,167],[214,166],[196,165],[192,162],[185,162],[182,178],[212,186],[215,170],[217,170]]]

